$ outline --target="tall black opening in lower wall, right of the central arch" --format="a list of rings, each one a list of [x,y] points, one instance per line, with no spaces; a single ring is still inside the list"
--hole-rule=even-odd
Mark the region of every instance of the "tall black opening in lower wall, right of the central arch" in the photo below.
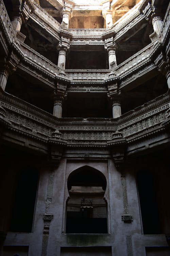
[[[154,178],[149,172],[137,174],[144,234],[161,234]]]

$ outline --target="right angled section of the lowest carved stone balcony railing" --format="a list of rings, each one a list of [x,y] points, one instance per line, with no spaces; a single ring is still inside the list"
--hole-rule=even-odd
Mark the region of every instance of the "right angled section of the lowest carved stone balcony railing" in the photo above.
[[[170,94],[157,97],[149,103],[140,106],[120,117],[118,129],[126,139],[140,136],[142,133],[156,129],[167,119],[170,108]],[[123,121],[123,119],[127,121]]]

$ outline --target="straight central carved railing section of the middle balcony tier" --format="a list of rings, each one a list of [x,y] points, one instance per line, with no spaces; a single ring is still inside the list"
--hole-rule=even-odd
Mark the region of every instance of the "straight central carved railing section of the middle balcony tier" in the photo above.
[[[67,78],[74,81],[79,80],[101,80],[108,77],[109,69],[66,69]]]

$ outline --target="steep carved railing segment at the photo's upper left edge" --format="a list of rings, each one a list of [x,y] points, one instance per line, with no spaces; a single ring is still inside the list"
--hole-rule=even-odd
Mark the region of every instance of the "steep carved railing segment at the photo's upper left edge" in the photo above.
[[[7,37],[10,40],[10,43],[13,43],[13,41],[16,40],[16,36],[3,1],[0,1],[0,19],[3,24],[3,28],[6,31]]]

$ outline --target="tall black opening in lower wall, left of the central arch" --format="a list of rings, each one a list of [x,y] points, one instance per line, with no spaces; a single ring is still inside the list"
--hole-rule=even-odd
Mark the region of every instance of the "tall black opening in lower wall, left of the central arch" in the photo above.
[[[27,169],[20,173],[12,212],[11,232],[32,232],[38,172]]]

